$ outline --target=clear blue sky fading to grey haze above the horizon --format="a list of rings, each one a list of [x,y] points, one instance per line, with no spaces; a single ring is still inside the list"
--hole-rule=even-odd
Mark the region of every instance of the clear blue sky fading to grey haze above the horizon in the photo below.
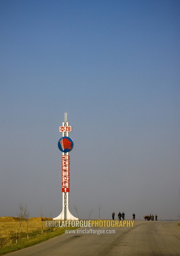
[[[0,216],[180,214],[180,2],[0,1]],[[117,215],[116,214],[116,215]]]

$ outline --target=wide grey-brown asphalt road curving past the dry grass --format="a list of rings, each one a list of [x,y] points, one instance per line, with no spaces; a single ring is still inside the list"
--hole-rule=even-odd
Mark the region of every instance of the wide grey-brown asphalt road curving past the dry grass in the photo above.
[[[6,256],[180,256],[177,223],[135,221],[134,227],[96,227],[115,234],[64,234]]]

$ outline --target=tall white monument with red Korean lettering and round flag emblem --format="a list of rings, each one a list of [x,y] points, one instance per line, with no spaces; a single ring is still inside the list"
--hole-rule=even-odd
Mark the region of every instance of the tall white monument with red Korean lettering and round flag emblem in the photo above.
[[[62,212],[53,220],[78,220],[69,210],[69,192],[70,192],[70,156],[69,152],[73,149],[73,140],[69,137],[72,126],[67,121],[67,113],[65,113],[65,122],[59,127],[62,132],[62,138],[58,142],[58,148],[62,151]]]

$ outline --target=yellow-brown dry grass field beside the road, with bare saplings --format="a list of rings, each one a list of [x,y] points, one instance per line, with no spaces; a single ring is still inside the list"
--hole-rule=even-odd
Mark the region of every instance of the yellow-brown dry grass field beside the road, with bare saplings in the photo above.
[[[28,237],[27,222],[24,220],[17,239],[17,231],[20,227],[19,218],[0,217],[0,255],[20,250],[65,233],[67,228],[45,227],[46,220],[52,219],[30,218],[28,221]],[[68,227],[68,229],[71,228]]]

